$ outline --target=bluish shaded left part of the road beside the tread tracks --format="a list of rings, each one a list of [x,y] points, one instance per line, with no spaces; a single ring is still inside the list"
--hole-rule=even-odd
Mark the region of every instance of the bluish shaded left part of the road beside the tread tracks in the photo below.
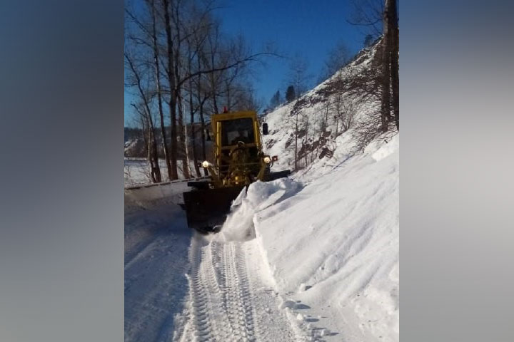
[[[125,216],[125,341],[168,341],[187,296],[188,247],[181,209]]]

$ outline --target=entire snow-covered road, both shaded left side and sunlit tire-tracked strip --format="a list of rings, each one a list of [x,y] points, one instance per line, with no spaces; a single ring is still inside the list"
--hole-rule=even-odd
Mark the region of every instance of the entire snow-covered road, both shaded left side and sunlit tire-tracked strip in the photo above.
[[[208,241],[170,205],[125,220],[125,341],[302,340],[255,239]]]

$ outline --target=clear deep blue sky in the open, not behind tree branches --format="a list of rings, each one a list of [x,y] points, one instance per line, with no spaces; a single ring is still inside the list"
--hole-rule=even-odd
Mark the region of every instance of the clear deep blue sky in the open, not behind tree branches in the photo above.
[[[363,47],[364,35],[346,22],[351,15],[348,0],[220,0],[223,32],[243,33],[254,51],[273,41],[284,55],[300,53],[309,63],[315,86],[328,51],[344,41],[351,53]],[[273,93],[285,94],[288,60],[268,58],[265,68],[256,69],[252,83],[256,98],[269,102]],[[131,96],[125,95],[125,124],[129,125]]]

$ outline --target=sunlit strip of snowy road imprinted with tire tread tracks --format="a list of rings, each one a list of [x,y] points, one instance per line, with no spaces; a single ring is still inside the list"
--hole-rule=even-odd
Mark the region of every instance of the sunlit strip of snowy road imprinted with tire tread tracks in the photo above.
[[[298,341],[256,240],[191,245],[190,301],[175,341]]]

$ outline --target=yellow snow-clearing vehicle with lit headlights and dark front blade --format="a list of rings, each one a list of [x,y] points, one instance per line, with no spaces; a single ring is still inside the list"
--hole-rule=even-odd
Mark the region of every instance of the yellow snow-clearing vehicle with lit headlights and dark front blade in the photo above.
[[[211,115],[213,160],[204,160],[208,180],[188,182],[193,187],[183,193],[188,227],[202,234],[219,232],[233,199],[256,180],[267,182],[291,174],[290,170],[271,172],[277,156],[263,153],[261,130],[254,111]],[[268,134],[264,123],[262,134]]]

